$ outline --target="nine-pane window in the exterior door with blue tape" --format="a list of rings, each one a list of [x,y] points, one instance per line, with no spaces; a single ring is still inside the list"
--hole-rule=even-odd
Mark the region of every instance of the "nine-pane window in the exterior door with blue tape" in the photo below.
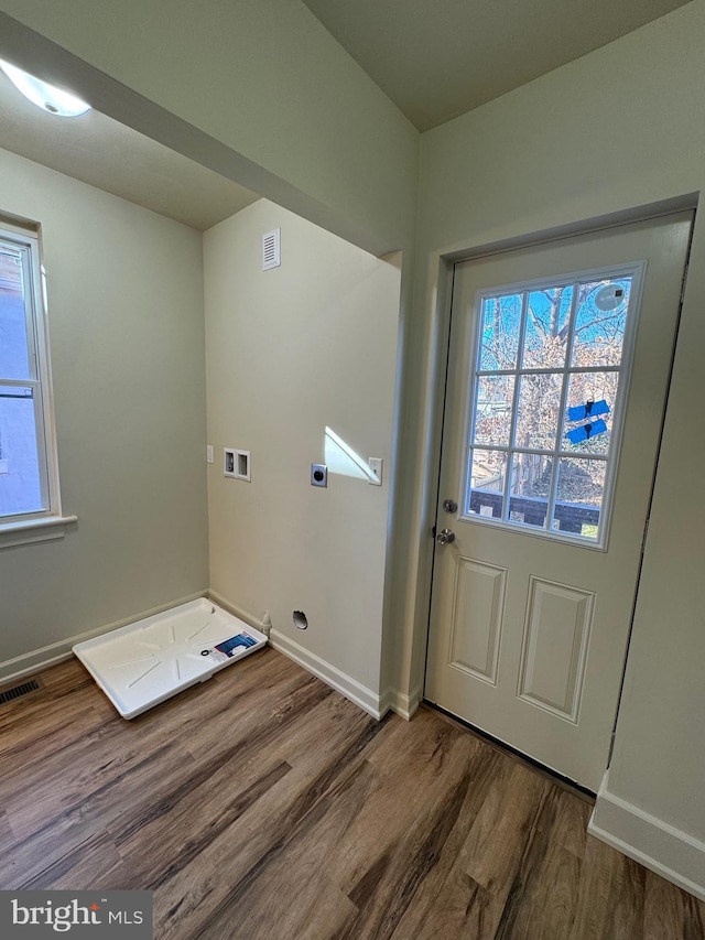
[[[478,293],[466,518],[605,545],[642,270]]]

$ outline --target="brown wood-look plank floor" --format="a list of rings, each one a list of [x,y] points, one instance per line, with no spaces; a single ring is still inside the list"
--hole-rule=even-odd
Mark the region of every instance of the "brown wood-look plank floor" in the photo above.
[[[589,801],[272,649],[132,722],[77,661],[0,707],[0,888],[149,888],[159,940],[696,940]]]

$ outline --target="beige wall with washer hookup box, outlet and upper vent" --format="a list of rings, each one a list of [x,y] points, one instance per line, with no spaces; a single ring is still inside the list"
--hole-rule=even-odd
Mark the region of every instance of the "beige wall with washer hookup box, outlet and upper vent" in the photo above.
[[[379,693],[399,268],[263,199],[207,231],[204,258],[212,588]],[[384,460],[381,487],[311,486],[326,425]],[[250,483],[224,477],[224,446],[251,452]]]

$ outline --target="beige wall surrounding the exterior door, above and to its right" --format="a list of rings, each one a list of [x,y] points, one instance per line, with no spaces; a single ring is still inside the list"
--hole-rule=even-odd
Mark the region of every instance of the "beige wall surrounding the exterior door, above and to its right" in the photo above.
[[[434,344],[442,332],[435,309],[442,252],[570,226],[704,187],[704,61],[705,3],[697,0],[423,136],[416,332],[409,374],[425,372],[425,379],[414,386],[415,397],[414,387],[408,387],[406,413],[426,413],[433,389]],[[659,839],[668,826],[701,840],[696,863],[684,863],[681,875],[699,877],[703,889],[705,629],[698,572],[705,440],[696,429],[702,425],[697,378],[704,305],[705,224],[698,218],[609,779],[609,792],[630,808],[632,822],[639,812],[647,814],[631,833],[625,826],[615,838],[631,840],[632,850],[641,840],[637,849],[647,860],[661,851]],[[402,460],[420,467],[425,461],[429,471],[435,460],[430,443],[435,444],[431,422],[421,422],[415,446]],[[419,564],[422,575],[427,571],[431,548],[431,500],[421,473],[406,503],[417,507],[417,515],[410,515],[410,528],[400,536],[412,548],[411,577],[399,579],[398,599],[411,614],[389,659],[408,670],[404,679],[413,688],[423,670],[427,609],[423,576],[414,581],[414,573]]]

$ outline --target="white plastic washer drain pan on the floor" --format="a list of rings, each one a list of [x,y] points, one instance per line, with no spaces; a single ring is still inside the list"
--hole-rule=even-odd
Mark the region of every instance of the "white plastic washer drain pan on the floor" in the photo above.
[[[133,718],[261,649],[264,634],[202,597],[76,644],[123,718]]]

